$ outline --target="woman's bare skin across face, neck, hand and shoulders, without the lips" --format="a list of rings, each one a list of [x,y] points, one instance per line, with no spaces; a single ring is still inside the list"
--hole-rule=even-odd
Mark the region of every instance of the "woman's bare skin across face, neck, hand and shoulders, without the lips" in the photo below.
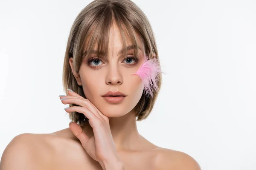
[[[87,99],[72,91],[60,97],[65,105],[79,105],[65,111],[84,114],[90,126],[81,129],[71,123],[70,127],[49,134],[15,136],[3,152],[0,170],[201,170],[186,153],[158,147],[139,134],[133,108],[140,100],[143,85],[139,77],[131,74],[143,61],[139,59],[134,64],[134,60],[128,62],[117,55],[122,39],[116,24],[111,27],[109,41],[111,57],[90,65],[84,61],[79,73],[73,70],[70,58],[73,75]],[[137,41],[142,58],[144,45],[139,37]],[[128,41],[127,45],[131,43]],[[127,96],[120,104],[110,104],[102,97],[108,91]]]

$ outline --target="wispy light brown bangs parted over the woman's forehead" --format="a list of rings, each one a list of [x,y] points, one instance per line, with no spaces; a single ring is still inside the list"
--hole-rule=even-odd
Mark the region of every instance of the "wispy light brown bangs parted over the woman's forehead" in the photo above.
[[[89,59],[92,54],[96,54],[96,57],[101,57],[103,59],[108,58],[110,28],[113,26],[113,24],[116,24],[116,26],[119,28],[122,37],[122,50],[117,55],[123,57],[127,55],[128,50],[133,50],[134,55],[138,57],[139,47],[137,44],[136,31],[131,23],[128,22],[124,16],[122,16],[122,13],[116,14],[115,10],[111,11],[106,9],[100,15],[100,17],[96,17],[100,19],[96,20],[89,28],[90,32],[87,31],[89,34],[84,34],[84,37],[81,37],[81,40],[84,41],[81,43],[80,47],[80,49],[82,49],[81,57],[79,57],[80,63],[81,60]],[[131,44],[128,45],[128,42],[131,42]]]

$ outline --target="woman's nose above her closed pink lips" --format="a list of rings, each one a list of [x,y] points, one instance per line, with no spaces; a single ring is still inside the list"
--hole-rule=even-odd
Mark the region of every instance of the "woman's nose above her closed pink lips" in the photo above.
[[[108,74],[106,77],[107,85],[121,85],[122,84],[122,75],[118,70],[118,66],[110,66],[108,69]]]

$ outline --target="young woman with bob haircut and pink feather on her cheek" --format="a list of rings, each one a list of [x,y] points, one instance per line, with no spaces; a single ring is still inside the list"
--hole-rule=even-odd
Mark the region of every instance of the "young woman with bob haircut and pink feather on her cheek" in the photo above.
[[[23,133],[6,147],[0,170],[200,170],[186,153],[138,133],[161,87],[157,45],[130,0],[95,0],[76,17],[63,68],[72,120],[50,134]],[[71,89],[71,90],[70,90]]]

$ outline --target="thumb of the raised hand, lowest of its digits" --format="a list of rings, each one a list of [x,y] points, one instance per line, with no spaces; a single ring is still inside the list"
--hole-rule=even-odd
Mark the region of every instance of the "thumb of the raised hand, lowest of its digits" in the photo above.
[[[82,128],[79,125],[77,125],[76,122],[70,123],[69,126],[72,133],[80,140],[81,144],[84,147],[84,145],[88,142],[90,137],[84,133]]]

